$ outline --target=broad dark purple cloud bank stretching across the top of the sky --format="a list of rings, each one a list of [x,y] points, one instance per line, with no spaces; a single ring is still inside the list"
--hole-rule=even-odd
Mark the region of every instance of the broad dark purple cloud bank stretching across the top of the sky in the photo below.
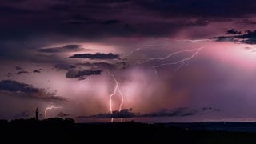
[[[248,5],[246,5],[246,3]],[[254,14],[254,2],[210,0],[128,0],[122,2],[3,2],[1,39],[170,36],[188,26],[206,26]],[[31,7],[33,6],[33,7]],[[174,20],[170,20],[174,18]],[[177,18],[177,19],[176,19]],[[17,25],[17,23],[19,25]],[[46,49],[42,52],[58,52]]]

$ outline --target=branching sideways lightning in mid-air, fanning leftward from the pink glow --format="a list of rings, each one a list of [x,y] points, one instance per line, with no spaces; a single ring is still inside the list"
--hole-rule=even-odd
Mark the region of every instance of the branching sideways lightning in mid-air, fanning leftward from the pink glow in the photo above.
[[[194,52],[194,54],[192,54],[189,58],[184,58],[184,59],[179,60],[179,61],[177,61],[177,62],[167,62],[167,63],[162,63],[162,64],[160,64],[160,65],[155,65],[155,66],[153,66],[154,73],[155,73],[155,74],[158,73],[158,71],[157,71],[157,68],[158,68],[158,67],[166,66],[166,65],[177,65],[177,64],[181,64],[181,65],[178,67],[178,69],[180,69],[186,62],[188,62],[188,61],[190,61],[191,59],[193,59],[194,56],[197,55],[198,52],[199,52],[200,50],[202,50],[203,48],[204,48],[204,47],[202,46],[202,47],[200,47],[200,48],[198,48],[198,49],[191,50],[191,51],[195,51],[195,52]],[[178,51],[178,52],[181,52],[181,51]],[[176,54],[177,54],[178,52],[176,52]],[[170,54],[169,54],[169,55],[170,55]],[[166,58],[169,58],[169,57],[162,58],[161,60],[164,60],[164,59],[166,59]]]

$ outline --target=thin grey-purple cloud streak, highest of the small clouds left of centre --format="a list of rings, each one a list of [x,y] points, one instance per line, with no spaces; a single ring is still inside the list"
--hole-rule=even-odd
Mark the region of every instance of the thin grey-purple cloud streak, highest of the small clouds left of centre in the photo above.
[[[52,47],[52,48],[43,48],[39,49],[39,52],[42,53],[62,53],[62,52],[69,52],[69,51],[80,51],[85,50],[80,45],[66,45],[62,47]]]

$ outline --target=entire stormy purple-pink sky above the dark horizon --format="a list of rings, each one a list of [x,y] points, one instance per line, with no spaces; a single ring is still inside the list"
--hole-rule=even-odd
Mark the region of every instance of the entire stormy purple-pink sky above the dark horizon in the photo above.
[[[2,0],[0,17],[0,118],[256,120],[254,1]]]

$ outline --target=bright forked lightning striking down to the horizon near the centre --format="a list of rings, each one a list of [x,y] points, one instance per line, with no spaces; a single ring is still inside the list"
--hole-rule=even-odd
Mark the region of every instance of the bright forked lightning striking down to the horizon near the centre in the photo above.
[[[114,87],[114,91],[112,94],[110,94],[109,98],[110,98],[110,114],[113,113],[113,108],[112,108],[112,97],[114,96],[114,94],[118,93],[120,94],[121,98],[122,98],[122,101],[119,105],[119,112],[122,110],[122,104],[124,102],[124,97],[123,97],[123,94],[122,94],[122,91],[120,90],[119,88],[119,84],[118,84],[118,81],[117,79],[114,77],[114,74],[111,74],[110,71],[108,71],[108,73],[110,74],[110,76],[114,79],[114,82],[115,82],[115,87]]]

